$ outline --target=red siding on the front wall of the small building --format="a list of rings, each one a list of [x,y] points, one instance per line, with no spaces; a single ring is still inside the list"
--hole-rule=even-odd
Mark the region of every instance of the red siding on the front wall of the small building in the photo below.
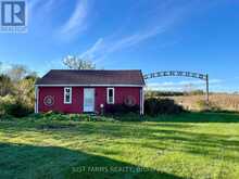
[[[39,112],[59,111],[63,113],[83,113],[84,105],[84,88],[72,87],[72,104],[64,104],[64,87],[39,87]],[[90,87],[96,89],[95,108],[100,112],[100,104],[106,105],[106,88],[108,87]],[[140,105],[141,87],[114,87],[115,104],[123,104],[125,98],[131,95],[136,99],[136,104]],[[54,98],[54,104],[47,106],[43,99],[47,95]]]

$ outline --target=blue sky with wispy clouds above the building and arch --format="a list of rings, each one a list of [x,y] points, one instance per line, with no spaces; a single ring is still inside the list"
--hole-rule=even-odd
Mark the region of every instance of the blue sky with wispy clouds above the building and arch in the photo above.
[[[0,33],[0,62],[43,75],[62,59],[91,59],[99,68],[207,73],[213,91],[239,91],[238,0],[28,0],[28,31]],[[187,78],[152,87],[203,88]]]

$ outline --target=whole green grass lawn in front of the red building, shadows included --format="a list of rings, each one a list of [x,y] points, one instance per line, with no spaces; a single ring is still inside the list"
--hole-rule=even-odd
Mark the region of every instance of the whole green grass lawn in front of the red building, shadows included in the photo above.
[[[0,120],[0,178],[239,178],[239,114]]]

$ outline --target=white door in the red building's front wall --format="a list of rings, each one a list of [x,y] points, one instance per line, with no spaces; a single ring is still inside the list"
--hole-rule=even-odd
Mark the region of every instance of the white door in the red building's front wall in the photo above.
[[[93,88],[84,88],[84,112],[95,112]]]

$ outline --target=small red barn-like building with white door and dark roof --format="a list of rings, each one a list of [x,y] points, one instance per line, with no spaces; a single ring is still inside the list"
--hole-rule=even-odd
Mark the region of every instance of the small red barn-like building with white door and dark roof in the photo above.
[[[143,114],[143,86],[141,71],[53,69],[36,82],[35,112],[100,113],[126,104]]]

